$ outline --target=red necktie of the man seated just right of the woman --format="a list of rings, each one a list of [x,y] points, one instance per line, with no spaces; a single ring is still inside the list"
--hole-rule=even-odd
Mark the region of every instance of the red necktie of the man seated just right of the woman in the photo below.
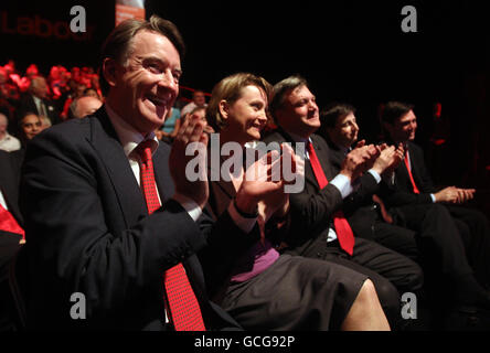
[[[320,190],[327,186],[329,181],[323,173],[323,169],[321,168],[320,161],[318,160],[317,153],[315,152],[313,146],[311,142],[307,143],[308,154],[310,157],[311,168],[313,169],[315,176],[317,178],[318,185]],[[339,238],[340,247],[345,250],[349,255],[352,256],[354,253],[354,233],[352,232],[349,222],[345,220],[343,212],[341,210],[337,211],[333,214],[333,226],[337,231],[337,236]]]

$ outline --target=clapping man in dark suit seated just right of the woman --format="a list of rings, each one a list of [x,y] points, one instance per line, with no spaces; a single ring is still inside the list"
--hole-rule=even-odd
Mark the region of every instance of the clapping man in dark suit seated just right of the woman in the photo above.
[[[374,242],[355,238],[353,248],[343,246],[339,238],[335,214],[341,208],[343,199],[352,192],[352,183],[365,172],[379,151],[373,146],[354,149],[348,154],[340,173],[331,170],[328,157],[328,146],[324,140],[313,132],[320,126],[318,106],[315,96],[306,81],[299,76],[288,77],[274,86],[274,98],[270,111],[279,130],[265,138],[266,142],[277,141],[298,142],[306,145],[305,153],[305,188],[299,193],[289,196],[291,213],[291,232],[285,243],[288,252],[306,257],[328,259],[362,274],[369,274],[379,290],[382,303],[386,297],[383,288],[395,285],[401,292],[417,291],[422,287],[422,270],[411,259]],[[310,143],[308,146],[308,143]],[[312,148],[312,150],[310,149]],[[311,158],[318,156],[318,161],[328,180],[326,186],[320,182],[313,170]],[[296,154],[300,156],[297,150]],[[371,175],[368,189],[376,188],[376,180]],[[344,224],[344,223],[343,223]],[[352,239],[353,235],[351,234]],[[352,246],[352,240],[349,242]],[[390,281],[387,281],[388,279]],[[397,292],[395,290],[395,296]],[[398,298],[395,298],[395,301]],[[393,319],[397,313],[387,313]]]

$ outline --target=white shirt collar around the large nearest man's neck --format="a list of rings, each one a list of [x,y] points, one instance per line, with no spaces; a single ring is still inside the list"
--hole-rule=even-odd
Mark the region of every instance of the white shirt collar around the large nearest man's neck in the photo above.
[[[132,128],[116,111],[114,111],[114,109],[110,108],[109,105],[106,104],[105,108],[107,111],[107,116],[109,117],[109,120],[113,124],[114,129],[116,130],[119,141],[122,145],[122,149],[125,150],[126,157],[129,158],[135,148],[140,142],[147,139],[151,139],[155,141],[155,143],[151,143],[151,153],[155,153],[159,142],[153,131],[149,133],[147,138],[145,138],[145,136],[141,135],[141,132],[135,130],[135,128]]]

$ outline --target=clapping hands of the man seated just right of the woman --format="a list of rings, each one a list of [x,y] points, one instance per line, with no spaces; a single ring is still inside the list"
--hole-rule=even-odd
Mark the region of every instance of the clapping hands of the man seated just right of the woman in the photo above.
[[[374,145],[356,147],[343,160],[340,174],[348,176],[352,182],[371,169],[379,156],[380,150]]]

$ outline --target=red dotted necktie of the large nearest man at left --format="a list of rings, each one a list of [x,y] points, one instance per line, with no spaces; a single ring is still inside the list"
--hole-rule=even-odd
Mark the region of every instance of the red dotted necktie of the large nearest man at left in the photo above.
[[[137,148],[141,158],[140,184],[149,214],[160,208],[151,159],[151,140],[146,140]],[[204,331],[201,309],[182,264],[168,269],[163,277],[170,317],[175,331]]]

